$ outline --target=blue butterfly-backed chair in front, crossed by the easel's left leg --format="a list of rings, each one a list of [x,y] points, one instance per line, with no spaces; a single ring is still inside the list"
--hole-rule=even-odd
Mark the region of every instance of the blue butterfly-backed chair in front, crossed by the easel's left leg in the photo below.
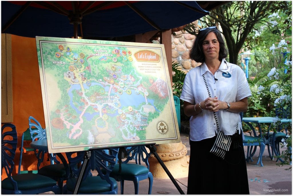
[[[108,150],[109,153],[102,149],[91,150],[91,157],[84,170],[84,178],[81,180],[77,194],[117,194],[117,182],[109,174],[114,168],[118,148],[109,148]],[[70,173],[67,174],[69,177],[63,188],[64,194],[74,193],[78,175],[82,170],[82,165],[78,167],[78,164],[85,163],[85,153],[86,151],[66,152]],[[98,176],[92,176],[91,170],[96,170]]]

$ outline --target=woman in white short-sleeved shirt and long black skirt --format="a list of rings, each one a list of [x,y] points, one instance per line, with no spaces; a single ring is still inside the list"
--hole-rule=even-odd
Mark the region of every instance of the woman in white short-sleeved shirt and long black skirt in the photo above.
[[[202,65],[186,74],[180,97],[191,116],[187,194],[249,194],[239,113],[247,111],[251,91],[242,69],[226,56],[220,31],[201,29],[190,58]],[[234,138],[224,159],[210,152],[218,130]]]

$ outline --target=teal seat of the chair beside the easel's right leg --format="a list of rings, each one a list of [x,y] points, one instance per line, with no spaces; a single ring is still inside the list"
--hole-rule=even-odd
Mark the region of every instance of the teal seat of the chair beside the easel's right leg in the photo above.
[[[138,164],[130,164],[130,163],[122,163],[121,164],[121,173],[119,171],[119,164],[115,164],[114,169],[111,173],[115,173],[115,175],[119,174],[122,176],[140,176],[146,173],[149,173],[149,169],[143,165]],[[111,176],[110,173],[110,176]]]

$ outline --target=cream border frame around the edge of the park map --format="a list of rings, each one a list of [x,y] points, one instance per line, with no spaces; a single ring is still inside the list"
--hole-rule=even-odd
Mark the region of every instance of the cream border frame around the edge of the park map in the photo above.
[[[47,84],[46,84],[46,71],[44,68],[44,61],[43,61],[43,54],[42,54],[42,43],[70,43],[70,44],[88,44],[88,45],[105,45],[105,46],[121,46],[121,47],[136,47],[141,49],[160,49],[161,51],[161,59],[163,63],[163,72],[167,83],[168,88],[168,99],[170,103],[170,114],[172,115],[173,124],[169,125],[169,131],[174,132],[174,137],[171,138],[163,138],[163,139],[152,139],[152,140],[139,140],[137,142],[115,142],[111,145],[105,144],[85,144],[85,145],[78,145],[78,146],[60,146],[54,147],[54,143],[52,141],[52,133],[51,133],[51,123],[50,123],[50,106],[48,103],[48,92],[47,91]],[[108,44],[111,43],[111,44]],[[57,38],[57,37],[36,37],[36,44],[37,44],[37,53],[38,53],[38,62],[39,62],[39,69],[40,69],[40,81],[41,81],[41,89],[42,89],[42,98],[43,98],[43,108],[44,108],[44,116],[45,116],[45,125],[46,125],[46,133],[47,133],[47,144],[48,144],[48,152],[49,153],[57,153],[57,152],[72,152],[72,151],[83,151],[93,148],[105,148],[105,147],[118,147],[118,146],[131,146],[131,145],[147,145],[147,144],[166,144],[166,143],[178,143],[181,142],[179,128],[178,128],[178,121],[176,115],[176,109],[173,99],[172,93],[172,85],[171,80],[168,72],[168,65],[166,60],[166,53],[163,44],[147,44],[147,43],[136,43],[136,42],[117,42],[117,41],[102,41],[102,40],[87,40],[87,39],[71,39],[71,38]],[[162,119],[163,121],[163,119]]]

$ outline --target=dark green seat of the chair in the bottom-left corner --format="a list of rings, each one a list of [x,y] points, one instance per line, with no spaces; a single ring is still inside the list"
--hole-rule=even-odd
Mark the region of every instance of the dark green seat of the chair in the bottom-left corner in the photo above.
[[[56,181],[39,174],[34,173],[22,173],[12,176],[12,178],[17,182],[18,190],[32,190],[38,189],[40,187],[52,187],[56,185]],[[9,178],[5,178],[1,182],[1,188],[7,190],[13,190],[13,185]]]

